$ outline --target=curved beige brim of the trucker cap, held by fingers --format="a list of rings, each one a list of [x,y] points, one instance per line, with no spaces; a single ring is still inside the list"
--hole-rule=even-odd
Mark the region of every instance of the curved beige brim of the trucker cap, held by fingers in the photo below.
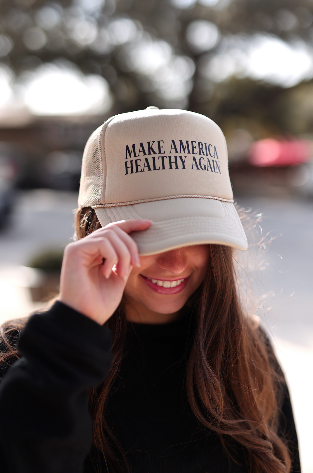
[[[94,210],[102,227],[119,220],[152,220],[147,230],[130,234],[143,256],[209,243],[239,250],[248,247],[232,202],[183,197]]]

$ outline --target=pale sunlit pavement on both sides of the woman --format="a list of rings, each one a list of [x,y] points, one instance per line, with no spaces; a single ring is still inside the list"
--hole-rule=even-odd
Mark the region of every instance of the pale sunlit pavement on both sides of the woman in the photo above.
[[[27,265],[38,252],[64,247],[70,241],[76,199],[75,193],[51,190],[20,194],[10,225],[0,233],[0,320],[27,315],[38,307],[30,299],[20,266]],[[260,227],[254,229],[254,234],[250,232],[254,243],[264,237],[262,245],[241,254],[244,259],[248,256],[252,276],[248,306],[271,334],[286,372],[303,473],[313,473],[312,202],[245,197],[238,203],[251,207],[255,214],[263,213]]]

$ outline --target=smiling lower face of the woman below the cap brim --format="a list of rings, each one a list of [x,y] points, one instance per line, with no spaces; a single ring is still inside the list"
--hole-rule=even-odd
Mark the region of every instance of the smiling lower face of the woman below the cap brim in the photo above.
[[[209,245],[140,256],[141,267],[133,268],[124,291],[128,319],[147,324],[175,320],[202,283],[209,259]]]

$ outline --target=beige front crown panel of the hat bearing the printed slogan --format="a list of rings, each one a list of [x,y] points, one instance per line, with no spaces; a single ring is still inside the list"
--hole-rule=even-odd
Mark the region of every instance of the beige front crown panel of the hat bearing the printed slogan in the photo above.
[[[232,199],[226,141],[209,118],[185,110],[117,115],[104,139],[107,176],[99,204],[176,195]]]

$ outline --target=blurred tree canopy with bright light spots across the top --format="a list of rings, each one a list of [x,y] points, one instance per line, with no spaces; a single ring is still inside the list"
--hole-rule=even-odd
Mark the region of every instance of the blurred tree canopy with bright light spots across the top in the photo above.
[[[275,39],[277,56],[288,47],[295,57],[312,54],[311,0],[0,3],[0,60],[19,80],[45,63],[76,66],[106,79],[114,113],[147,105],[189,107],[226,132],[245,128],[254,138],[312,131],[312,110],[303,100],[304,94],[312,97],[312,82],[296,85],[309,72],[297,76],[295,63],[295,76],[284,84],[265,73],[263,81],[255,80],[248,70],[251,44],[266,51]],[[306,110],[301,125],[286,118],[295,102],[297,116]]]

